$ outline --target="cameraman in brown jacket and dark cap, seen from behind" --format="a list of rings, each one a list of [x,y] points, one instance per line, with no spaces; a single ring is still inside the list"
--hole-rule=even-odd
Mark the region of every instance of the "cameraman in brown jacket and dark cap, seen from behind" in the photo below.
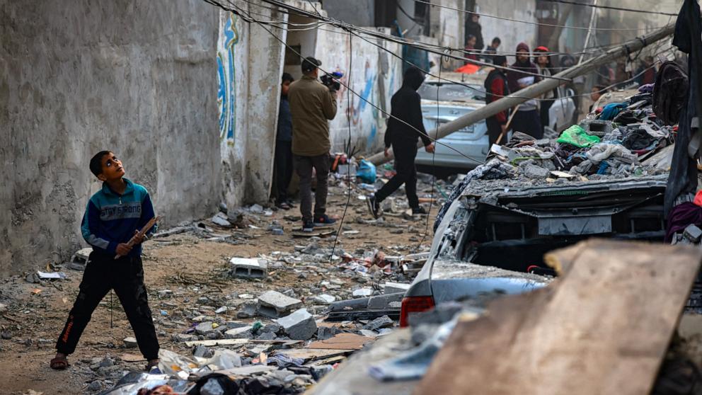
[[[327,176],[329,175],[329,123],[336,115],[338,81],[325,86],[317,81],[322,62],[313,57],[302,61],[302,76],[290,84],[287,93],[292,113],[292,154],[295,171],[300,177],[300,213],[302,231],[324,227],[335,222],[326,214]],[[330,81],[327,79],[327,81]],[[312,168],[317,173],[312,216]]]

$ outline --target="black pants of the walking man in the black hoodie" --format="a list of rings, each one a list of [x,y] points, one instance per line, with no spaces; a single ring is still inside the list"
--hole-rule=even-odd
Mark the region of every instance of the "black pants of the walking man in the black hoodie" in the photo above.
[[[376,200],[382,202],[386,197],[398,190],[402,184],[405,184],[405,193],[407,194],[410,208],[417,208],[419,207],[417,168],[415,167],[417,146],[413,144],[393,144],[393,153],[395,154],[395,171],[397,171],[397,174],[375,193]]]

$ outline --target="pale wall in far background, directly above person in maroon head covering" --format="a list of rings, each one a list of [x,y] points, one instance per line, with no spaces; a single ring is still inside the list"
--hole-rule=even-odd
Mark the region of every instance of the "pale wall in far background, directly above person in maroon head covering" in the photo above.
[[[476,0],[476,12],[511,18],[517,21],[539,22],[536,20],[535,10],[536,0]],[[495,36],[499,37],[502,40],[500,51],[514,52],[517,50],[519,42],[526,42],[531,50],[542,45],[536,42],[539,38],[538,25],[505,21],[486,16],[481,16],[480,23],[483,26],[483,41],[485,41],[485,45],[490,45],[490,41]],[[507,57],[507,62],[510,62],[510,64],[514,62],[514,57]]]

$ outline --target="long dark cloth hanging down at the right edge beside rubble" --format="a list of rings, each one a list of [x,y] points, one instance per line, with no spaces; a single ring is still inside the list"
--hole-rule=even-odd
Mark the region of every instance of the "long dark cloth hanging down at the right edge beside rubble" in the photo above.
[[[700,84],[700,65],[702,64],[702,21],[700,7],[695,0],[685,0],[675,24],[673,45],[689,54],[688,73],[690,88],[687,104],[682,108],[679,118],[678,133],[675,140],[670,174],[665,189],[664,213],[669,215],[675,200],[680,195],[695,193],[697,190],[697,163],[689,155],[689,145],[694,134],[699,132],[699,117],[702,92]],[[659,73],[661,74],[661,73]],[[658,83],[659,80],[656,81]],[[655,88],[657,90],[658,87]]]

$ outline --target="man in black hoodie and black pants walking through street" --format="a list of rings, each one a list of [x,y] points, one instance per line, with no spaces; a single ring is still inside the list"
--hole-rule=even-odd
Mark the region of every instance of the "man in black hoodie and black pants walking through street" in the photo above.
[[[377,218],[380,211],[380,202],[405,184],[407,200],[412,208],[412,214],[427,214],[419,205],[417,197],[417,169],[415,156],[417,156],[417,139],[422,139],[424,149],[434,152],[434,143],[427,136],[427,131],[422,122],[422,106],[417,89],[424,82],[424,73],[416,67],[405,71],[402,87],[391,100],[391,118],[385,132],[385,156],[389,156],[392,145],[395,154],[396,176],[383,185],[374,196],[367,199],[373,217]]]

